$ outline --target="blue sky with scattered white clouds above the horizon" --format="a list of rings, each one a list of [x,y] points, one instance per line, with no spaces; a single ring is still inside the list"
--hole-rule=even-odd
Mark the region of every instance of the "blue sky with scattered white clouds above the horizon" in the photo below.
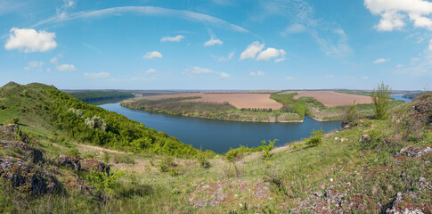
[[[432,87],[428,0],[0,0],[0,85]]]

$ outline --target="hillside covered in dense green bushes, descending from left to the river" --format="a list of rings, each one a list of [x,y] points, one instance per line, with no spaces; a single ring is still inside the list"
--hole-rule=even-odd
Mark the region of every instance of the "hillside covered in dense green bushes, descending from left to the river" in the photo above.
[[[0,87],[0,123],[53,141],[77,141],[127,152],[193,156],[191,145],[114,112],[90,105],[53,86],[9,83]]]

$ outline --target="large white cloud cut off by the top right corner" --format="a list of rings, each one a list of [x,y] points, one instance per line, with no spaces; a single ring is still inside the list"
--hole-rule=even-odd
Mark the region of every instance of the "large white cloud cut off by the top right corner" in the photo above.
[[[364,0],[372,14],[381,16],[376,28],[381,31],[403,29],[407,19],[414,27],[432,30],[432,3],[426,0]]]

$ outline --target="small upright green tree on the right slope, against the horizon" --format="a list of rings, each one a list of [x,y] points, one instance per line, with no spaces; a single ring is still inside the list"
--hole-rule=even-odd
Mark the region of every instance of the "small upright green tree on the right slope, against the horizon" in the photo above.
[[[390,95],[392,91],[388,85],[384,85],[381,82],[377,89],[371,91],[372,103],[375,105],[375,118],[376,119],[387,119],[387,111],[390,108]]]

